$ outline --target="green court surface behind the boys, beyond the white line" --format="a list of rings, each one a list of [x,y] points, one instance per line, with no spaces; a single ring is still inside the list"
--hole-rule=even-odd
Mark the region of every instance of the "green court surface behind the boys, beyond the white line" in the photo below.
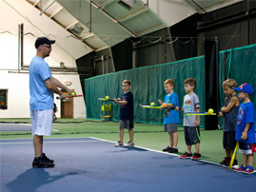
[[[13,126],[30,125],[30,119],[1,119],[0,122],[15,122]],[[0,123],[2,126],[5,124]],[[10,125],[10,123],[9,123]],[[119,124],[116,122],[102,122],[99,120],[84,119],[58,119],[53,123],[52,136],[50,138],[83,138],[95,137],[116,142],[119,139]],[[179,127],[178,148],[180,154],[186,151],[187,146],[184,140],[183,127]],[[22,139],[32,138],[30,131],[1,131],[0,139]],[[205,130],[201,128],[202,143],[200,152],[203,159],[213,163],[219,163],[225,157],[225,150],[222,146],[222,130]],[[125,140],[128,142],[128,131],[125,131]],[[135,145],[162,151],[168,145],[168,134],[163,132],[163,125],[135,124],[134,128]],[[194,147],[192,147],[194,152]],[[238,163],[242,163],[242,155],[238,152]],[[254,161],[256,167],[256,161]]]

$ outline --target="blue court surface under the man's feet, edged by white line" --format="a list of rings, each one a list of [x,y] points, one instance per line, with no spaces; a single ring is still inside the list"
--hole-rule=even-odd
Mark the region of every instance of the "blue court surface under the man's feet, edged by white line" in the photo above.
[[[1,140],[1,192],[255,191],[256,174],[95,138],[46,139],[54,168],[32,168],[32,140]]]

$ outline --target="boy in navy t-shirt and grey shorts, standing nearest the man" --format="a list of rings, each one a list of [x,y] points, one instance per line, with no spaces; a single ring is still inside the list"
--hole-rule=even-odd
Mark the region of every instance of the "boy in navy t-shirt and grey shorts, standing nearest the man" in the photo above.
[[[134,146],[133,143],[133,95],[129,91],[130,89],[130,81],[124,80],[122,83],[122,88],[124,93],[122,94],[122,98],[115,99],[114,102],[120,105],[120,121],[119,121],[119,141],[115,144],[116,147],[123,146],[124,140],[124,128],[128,129],[129,134],[129,142],[127,146]]]

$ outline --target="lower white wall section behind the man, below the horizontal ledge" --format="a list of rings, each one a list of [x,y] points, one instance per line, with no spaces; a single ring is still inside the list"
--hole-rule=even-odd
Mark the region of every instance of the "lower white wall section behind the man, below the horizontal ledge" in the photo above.
[[[72,85],[69,88],[74,89],[77,94],[82,94],[80,79],[78,75],[57,75],[52,74],[60,82],[69,80]],[[0,70],[0,89],[8,89],[8,109],[0,109],[1,118],[30,118],[30,85],[29,74],[10,73],[8,70]],[[57,117],[60,118],[61,102],[56,100],[54,103],[58,107]],[[86,106],[83,97],[73,99],[74,118],[86,118]]]

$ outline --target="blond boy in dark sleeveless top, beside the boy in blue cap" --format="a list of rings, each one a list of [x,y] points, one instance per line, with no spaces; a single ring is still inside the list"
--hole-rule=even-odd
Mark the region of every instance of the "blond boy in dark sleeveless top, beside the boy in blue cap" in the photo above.
[[[219,116],[224,116],[223,147],[226,150],[226,157],[220,164],[225,166],[229,166],[236,146],[236,116],[240,104],[236,92],[232,88],[236,86],[236,81],[233,79],[227,79],[223,82],[224,93],[227,97],[225,98],[225,106],[221,108]],[[233,165],[237,165],[237,160],[234,160]]]

